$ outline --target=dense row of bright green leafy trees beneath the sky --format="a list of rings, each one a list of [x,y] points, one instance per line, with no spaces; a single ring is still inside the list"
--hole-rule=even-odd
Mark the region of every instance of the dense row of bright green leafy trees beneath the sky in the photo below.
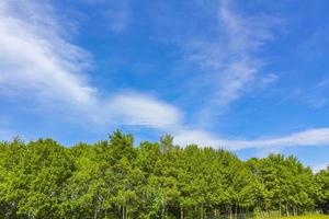
[[[238,218],[328,214],[329,169],[295,157],[239,160],[226,150],[109,140],[0,142],[0,218]]]

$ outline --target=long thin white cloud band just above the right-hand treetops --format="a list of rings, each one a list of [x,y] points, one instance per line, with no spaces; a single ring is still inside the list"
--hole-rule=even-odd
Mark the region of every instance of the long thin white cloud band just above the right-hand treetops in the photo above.
[[[196,143],[228,150],[246,148],[327,146],[329,145],[329,128],[307,129],[282,137],[245,139],[223,139],[203,130],[183,130],[175,135],[175,143],[186,146]]]

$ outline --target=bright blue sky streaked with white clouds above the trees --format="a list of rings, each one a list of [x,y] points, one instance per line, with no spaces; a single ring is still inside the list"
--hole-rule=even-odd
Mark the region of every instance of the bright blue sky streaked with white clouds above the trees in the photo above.
[[[329,163],[329,2],[0,2],[0,139],[139,140]]]

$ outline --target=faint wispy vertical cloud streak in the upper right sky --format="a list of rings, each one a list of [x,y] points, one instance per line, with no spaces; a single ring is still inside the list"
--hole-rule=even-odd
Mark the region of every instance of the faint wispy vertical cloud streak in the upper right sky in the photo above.
[[[256,81],[263,61],[253,53],[273,38],[271,27],[274,19],[266,16],[241,16],[232,11],[229,1],[220,4],[218,18],[227,35],[226,68],[219,77],[217,102],[226,106],[242,95],[242,91]],[[226,60],[224,60],[226,61]]]

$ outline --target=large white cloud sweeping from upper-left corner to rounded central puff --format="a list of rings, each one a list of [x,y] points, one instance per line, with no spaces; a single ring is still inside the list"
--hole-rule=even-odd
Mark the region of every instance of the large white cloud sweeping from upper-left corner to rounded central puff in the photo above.
[[[68,34],[46,2],[1,1],[0,96],[34,100],[43,111],[89,125],[164,129],[180,123],[179,110],[156,97],[131,92],[104,99],[83,74],[91,56]]]

